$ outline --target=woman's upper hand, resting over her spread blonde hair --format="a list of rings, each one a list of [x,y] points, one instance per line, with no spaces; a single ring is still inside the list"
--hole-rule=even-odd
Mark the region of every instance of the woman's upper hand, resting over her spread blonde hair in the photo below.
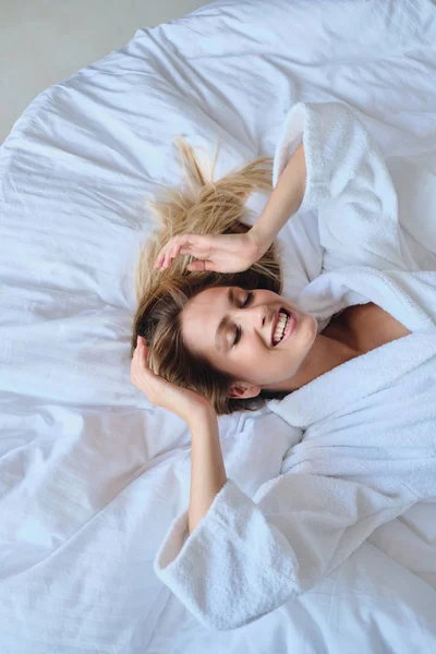
[[[187,270],[240,272],[256,263],[269,245],[252,230],[244,234],[180,234],[159,252],[155,268],[169,268],[174,257],[187,254],[198,259]]]

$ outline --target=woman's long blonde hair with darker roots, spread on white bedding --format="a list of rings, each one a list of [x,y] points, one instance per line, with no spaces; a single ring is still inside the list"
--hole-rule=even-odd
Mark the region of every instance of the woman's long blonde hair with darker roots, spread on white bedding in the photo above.
[[[243,272],[186,270],[193,261],[189,255],[173,259],[170,268],[156,269],[154,265],[160,250],[177,234],[249,231],[251,226],[242,220],[245,202],[254,191],[270,191],[272,160],[256,159],[214,181],[218,148],[207,179],[193,148],[182,138],[177,140],[177,145],[189,191],[168,190],[164,199],[150,203],[160,230],[152,234],[140,253],[135,278],[138,307],[133,319],[131,355],[137,335],[143,336],[147,341],[148,365],[154,373],[207,397],[218,415],[253,411],[266,399],[279,399],[287,392],[262,390],[256,398],[229,398],[227,393],[234,379],[211,366],[204,356],[193,355],[187,350],[182,338],[181,313],[191,298],[217,286],[268,289],[280,294],[282,279],[276,243]]]

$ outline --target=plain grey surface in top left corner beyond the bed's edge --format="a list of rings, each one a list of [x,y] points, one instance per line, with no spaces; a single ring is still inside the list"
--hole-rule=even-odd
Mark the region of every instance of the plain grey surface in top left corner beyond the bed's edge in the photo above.
[[[0,144],[41,90],[202,0],[0,0]]]

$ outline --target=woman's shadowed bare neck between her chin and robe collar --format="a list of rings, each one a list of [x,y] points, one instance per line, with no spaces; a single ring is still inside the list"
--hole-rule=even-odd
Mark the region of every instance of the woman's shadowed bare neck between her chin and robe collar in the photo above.
[[[328,336],[326,332],[328,331]],[[338,327],[326,328],[318,334],[299,372],[275,385],[271,390],[298,390],[313,382],[324,373],[359,356],[360,352],[353,346],[349,332]]]

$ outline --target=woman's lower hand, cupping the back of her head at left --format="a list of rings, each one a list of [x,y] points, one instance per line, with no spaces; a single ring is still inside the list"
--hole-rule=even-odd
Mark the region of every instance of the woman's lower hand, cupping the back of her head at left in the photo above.
[[[137,346],[132,358],[131,380],[150,402],[175,413],[189,425],[199,415],[208,412],[215,414],[213,404],[205,397],[187,388],[175,386],[149,370],[147,347],[142,336],[137,337]]]

